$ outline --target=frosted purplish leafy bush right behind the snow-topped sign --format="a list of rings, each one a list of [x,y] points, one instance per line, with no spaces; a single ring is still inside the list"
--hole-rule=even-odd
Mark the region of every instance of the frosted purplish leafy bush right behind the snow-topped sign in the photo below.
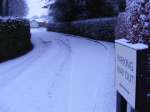
[[[126,0],[126,6],[126,11],[120,13],[117,19],[116,38],[150,44],[150,2]]]

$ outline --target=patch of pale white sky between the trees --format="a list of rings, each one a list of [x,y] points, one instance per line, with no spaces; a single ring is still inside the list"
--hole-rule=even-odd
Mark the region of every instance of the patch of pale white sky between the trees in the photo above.
[[[29,7],[29,13],[27,17],[33,17],[33,16],[42,16],[47,15],[47,10],[42,8],[44,6],[44,1],[42,0],[26,0],[28,7]]]

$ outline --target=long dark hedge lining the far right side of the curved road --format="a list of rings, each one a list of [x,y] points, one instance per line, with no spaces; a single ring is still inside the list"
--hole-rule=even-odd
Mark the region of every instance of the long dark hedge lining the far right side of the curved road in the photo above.
[[[113,41],[116,18],[80,20],[64,23],[49,23],[48,31],[63,32],[96,40]]]

